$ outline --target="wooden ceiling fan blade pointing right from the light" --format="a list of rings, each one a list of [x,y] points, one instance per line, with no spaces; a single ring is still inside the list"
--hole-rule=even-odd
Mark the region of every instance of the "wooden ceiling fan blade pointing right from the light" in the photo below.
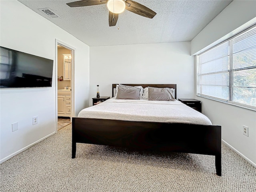
[[[135,1],[126,0],[125,4],[126,4],[126,7],[125,7],[126,10],[136,13],[138,15],[151,18],[151,19],[156,15],[156,12],[152,11],[150,8],[147,8],[144,5],[139,4]]]

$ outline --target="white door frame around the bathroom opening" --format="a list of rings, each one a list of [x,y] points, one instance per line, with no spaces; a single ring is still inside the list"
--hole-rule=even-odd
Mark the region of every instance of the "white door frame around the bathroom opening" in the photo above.
[[[72,122],[72,117],[75,113],[75,51],[76,48],[58,40],[55,39],[55,124],[56,124],[56,130],[55,132],[58,132],[58,45],[69,49],[71,54],[71,60],[72,60],[72,66],[71,66],[71,109],[70,109],[70,122]]]

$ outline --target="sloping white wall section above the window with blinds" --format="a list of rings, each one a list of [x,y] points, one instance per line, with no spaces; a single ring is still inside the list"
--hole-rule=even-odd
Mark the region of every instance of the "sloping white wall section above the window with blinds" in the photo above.
[[[256,23],[256,1],[234,0],[191,41],[191,55],[234,36]]]

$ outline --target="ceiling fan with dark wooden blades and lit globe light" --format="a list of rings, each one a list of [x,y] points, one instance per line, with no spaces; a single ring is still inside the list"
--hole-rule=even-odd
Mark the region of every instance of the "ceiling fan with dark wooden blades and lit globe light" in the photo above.
[[[156,12],[132,0],[81,0],[67,3],[67,5],[70,7],[82,7],[100,4],[107,4],[109,10],[109,26],[116,25],[119,13],[123,12],[125,9],[151,19],[156,15]]]

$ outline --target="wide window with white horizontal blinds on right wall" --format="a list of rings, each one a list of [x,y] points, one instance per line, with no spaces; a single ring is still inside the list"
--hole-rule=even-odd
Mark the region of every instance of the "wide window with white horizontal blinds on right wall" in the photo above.
[[[198,96],[256,110],[256,27],[197,58]]]

